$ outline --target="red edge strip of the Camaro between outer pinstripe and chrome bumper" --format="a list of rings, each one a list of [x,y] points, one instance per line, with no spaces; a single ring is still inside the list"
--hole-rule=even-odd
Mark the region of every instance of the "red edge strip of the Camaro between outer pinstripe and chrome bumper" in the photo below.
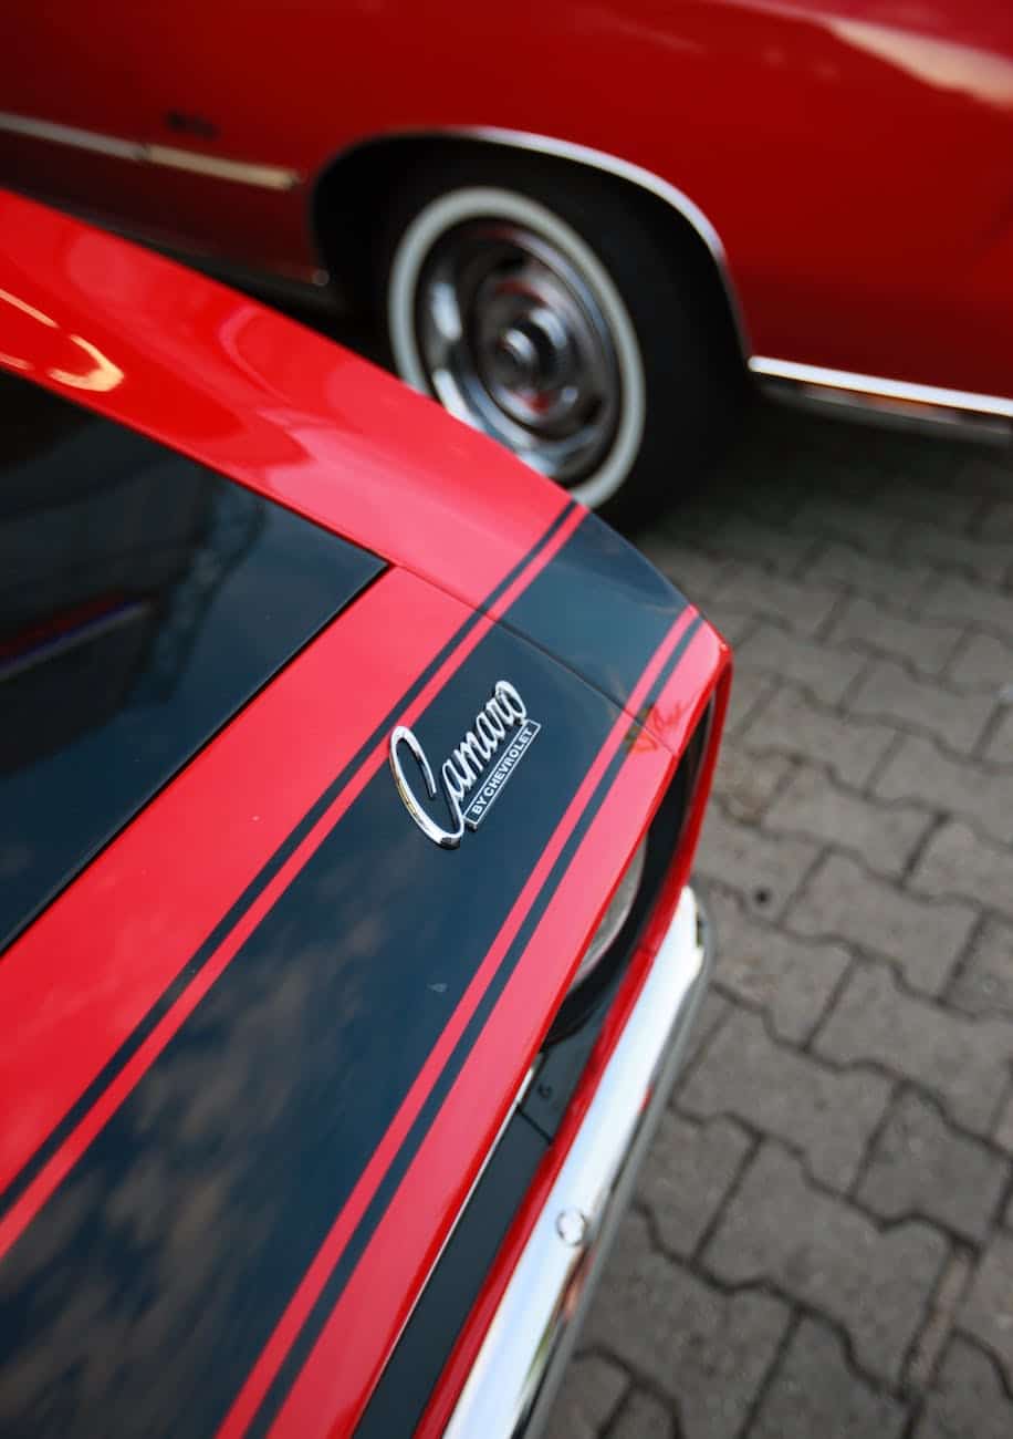
[[[684,619],[688,620],[688,616]],[[685,623],[677,626],[667,642],[665,652],[671,652],[684,629]],[[662,659],[664,653],[655,656],[654,673],[661,668]],[[559,1007],[578,958],[592,932],[595,921],[588,924],[586,898],[589,894],[601,895],[601,908],[603,909],[629,855],[644,837],[654,816],[657,803],[674,770],[674,755],[685,744],[693,722],[700,718],[726,663],[727,650],[721,642],[713,630],[703,630],[677,668],[657,707],[655,718],[662,722],[672,750],[651,735],[642,735],[634,745],[626,764],[619,771],[616,784],[609,791],[563,884],[537,925],[517,971],[471,1050],[437,1122],[330,1315],[272,1433],[295,1439],[295,1436],[310,1432],[312,1425],[320,1416],[328,1417],[325,1432],[329,1435],[346,1435],[355,1426],[460,1206],[474,1183],[481,1158],[494,1143],[520,1082],[537,1055],[549,1016]],[[691,678],[687,672],[691,672]],[[649,688],[649,676],[651,671],[647,672],[631,696],[631,708],[637,707],[637,696]],[[691,702],[687,702],[690,695],[693,696]],[[723,715],[718,717],[714,738],[720,732],[720,718]],[[588,793],[593,789],[593,783],[603,771],[608,758],[624,743],[625,732],[626,725],[619,721],[608,745],[588,774],[585,784]],[[713,754],[714,748],[711,748],[711,758]],[[704,783],[697,791],[698,807],[710,786],[710,770],[703,780]],[[542,863],[537,871],[533,871],[532,892],[540,876],[552,866],[569,827],[579,814],[580,803],[582,797],[576,796],[559,833],[546,849]],[[641,981],[652,954],[657,951],[664,924],[671,918],[671,911],[685,882],[694,843],[695,829],[691,827],[687,832],[687,842],[677,856],[665,899],[654,917],[654,925],[641,953],[639,964],[632,971]],[[512,930],[516,930],[523,920],[527,908],[524,901],[526,895],[520,895],[516,918],[512,917],[512,921],[504,927],[504,932],[497,940],[497,950],[500,945],[506,948]],[[598,915],[595,915],[596,918]],[[651,943],[654,943],[654,950]],[[487,974],[491,974],[497,950],[490,951],[483,971],[476,976],[473,1003],[477,1003]],[[560,967],[560,955],[570,955],[572,963]],[[611,1052],[615,1038],[615,1030],[609,1030],[605,1040],[606,1052]],[[476,1105],[474,1097],[480,1091],[484,1092],[486,1099],[493,1102]],[[591,1092],[593,1092],[593,1086]],[[572,1120],[573,1127],[579,1122],[582,1112],[583,1107],[578,1101]],[[568,1138],[572,1140],[572,1132]],[[556,1166],[562,1164],[568,1147],[568,1143],[553,1144],[546,1160],[546,1166],[553,1173]],[[461,1167],[464,1153],[470,1154],[471,1161]],[[444,1176],[441,1186],[433,1183],[438,1174]],[[539,1200],[543,1202],[543,1189],[539,1186],[532,1199],[530,1210],[526,1209],[520,1216],[522,1223],[537,1213]],[[512,1250],[501,1261],[507,1276],[516,1258],[517,1252]],[[490,1285],[497,1285],[499,1276],[500,1271],[497,1269],[490,1276]],[[362,1324],[365,1312],[372,1312],[378,1318],[378,1311],[382,1311],[387,1324],[379,1347],[376,1344],[381,1337],[379,1322],[369,1330]],[[257,1380],[263,1383],[266,1377],[259,1376],[254,1370],[251,1387],[256,1386]],[[457,1373],[451,1368],[445,1380],[447,1394],[455,1394],[455,1387]],[[241,1419],[241,1415],[243,1410],[239,1410],[237,1419]],[[241,1425],[237,1425],[236,1429],[226,1426],[223,1433],[239,1435]]]

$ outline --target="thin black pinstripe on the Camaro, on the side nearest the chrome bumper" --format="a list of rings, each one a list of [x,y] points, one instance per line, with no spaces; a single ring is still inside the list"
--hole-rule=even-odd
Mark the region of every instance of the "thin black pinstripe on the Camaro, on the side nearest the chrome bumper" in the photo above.
[[[662,694],[665,685],[668,684],[672,673],[678,668],[683,656],[693,643],[701,625],[703,619],[697,616],[687,626],[685,633],[680,637],[678,643],[672,649],[672,653],[668,656],[661,672],[651,685],[651,689],[645,699],[645,707],[649,708],[655,702],[658,695]],[[440,1078],[437,1079],[425,1104],[420,1109],[415,1122],[405,1135],[405,1140],[401,1148],[398,1150],[394,1163],[384,1176],[384,1180],[378,1187],[372,1202],[365,1210],[359,1223],[356,1225],[355,1232],[352,1233],[348,1245],[342,1250],[342,1255],[330,1278],[320,1291],[316,1304],[307,1314],[306,1321],[299,1333],[299,1337],[289,1350],[285,1363],[282,1364],[274,1377],[274,1381],[264,1394],[263,1402],[247,1430],[250,1439],[256,1439],[256,1436],[266,1435],[272,1423],[277,1417],[277,1413],[282,1409],[285,1400],[287,1399],[292,1386],[296,1377],[299,1376],[299,1371],[309,1358],[309,1354],[313,1345],[316,1344],[318,1338],[320,1337],[320,1333],[325,1324],[328,1322],[328,1318],[330,1317],[335,1305],[338,1304],[338,1299],[341,1298],[345,1285],[348,1284],[355,1268],[362,1259],[366,1245],[372,1239],[379,1222],[387,1213],[387,1209],[391,1200],[394,1199],[394,1194],[397,1193],[405,1173],[408,1171],[411,1161],[415,1158],[418,1150],[421,1148],[425,1135],[433,1128],[433,1124],[440,1109],[443,1108],[447,1095],[450,1094],[457,1076],[464,1068],[468,1055],[474,1049],[478,1036],[481,1035],[481,1030],[486,1027],[486,1023],[490,1019],[493,1010],[496,1009],[503,994],[503,990],[510,981],[510,977],[517,968],[522,955],[527,950],[527,945],[530,944],[535,931],[542,922],[546,909],[552,904],[556,891],[559,889],[566,872],[569,871],[573,862],[573,856],[580,848],[580,843],[588,835],[588,830],[593,825],[598,812],[601,810],[606,796],[609,794],[612,786],[615,784],[616,777],[622,770],[622,766],[626,763],[629,753],[631,747],[628,744],[619,745],[612,760],[606,766],[605,773],[595,786],[591,797],[588,799],[586,807],[583,809],[578,823],[575,825],[573,832],[570,833],[566,843],[560,849],[555,865],[549,871],[542,888],[539,889],[532,908],[529,909],[513,943],[510,944],[510,948],[500,961],[500,966],[496,970],[496,974],[493,976],[489,989],[483,994],[480,1003],[476,1006],[474,1014],[468,1020],[464,1032],[461,1033],[461,1038],[451,1050],[451,1055],[447,1059],[447,1063],[444,1065]]]

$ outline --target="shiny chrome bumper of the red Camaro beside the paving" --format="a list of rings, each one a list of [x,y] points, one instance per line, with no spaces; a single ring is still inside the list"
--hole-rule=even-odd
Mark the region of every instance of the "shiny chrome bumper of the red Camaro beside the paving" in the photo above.
[[[532,1439],[678,1071],[711,967],[688,886],[510,1278],[445,1439]]]

